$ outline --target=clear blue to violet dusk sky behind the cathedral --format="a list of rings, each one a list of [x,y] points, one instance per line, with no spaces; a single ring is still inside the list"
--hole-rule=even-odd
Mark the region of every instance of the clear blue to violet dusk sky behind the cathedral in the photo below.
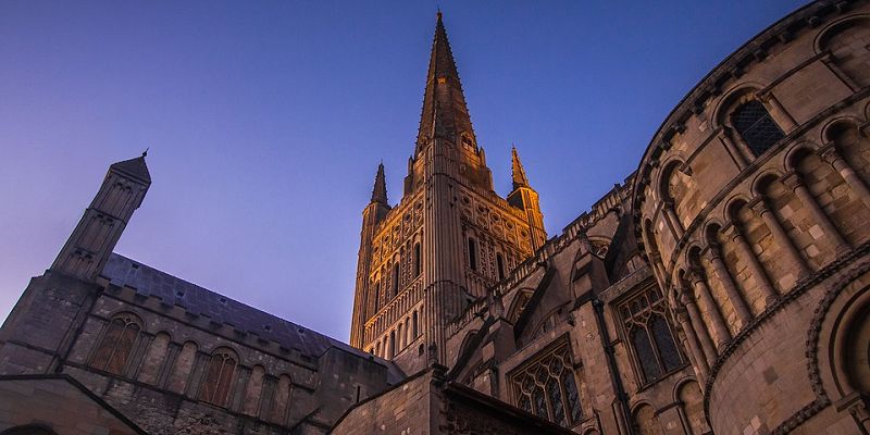
[[[556,235],[793,0],[438,2],[496,190],[515,144]],[[112,162],[115,250],[346,340],[360,213],[413,150],[435,1],[0,1],[0,319]]]

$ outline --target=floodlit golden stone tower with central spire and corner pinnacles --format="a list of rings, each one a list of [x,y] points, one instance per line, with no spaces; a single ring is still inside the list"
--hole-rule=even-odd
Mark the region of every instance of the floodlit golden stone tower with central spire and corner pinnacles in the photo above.
[[[451,365],[447,325],[547,239],[537,194],[515,149],[513,190],[493,190],[440,12],[401,201],[383,164],[362,212],[350,344],[407,372]]]

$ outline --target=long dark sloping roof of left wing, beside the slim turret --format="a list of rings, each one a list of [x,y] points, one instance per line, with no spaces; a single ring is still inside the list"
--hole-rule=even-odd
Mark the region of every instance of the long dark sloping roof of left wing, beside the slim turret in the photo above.
[[[158,297],[165,303],[177,304],[190,313],[208,316],[214,322],[227,323],[236,330],[257,334],[287,349],[299,349],[302,355],[319,358],[331,347],[360,358],[373,358],[387,368],[391,384],[405,375],[393,362],[373,357],[335,338],[260,311],[226,296],[188,283],[119,253],[112,253],[102,276],[117,286],[127,286],[145,296]]]

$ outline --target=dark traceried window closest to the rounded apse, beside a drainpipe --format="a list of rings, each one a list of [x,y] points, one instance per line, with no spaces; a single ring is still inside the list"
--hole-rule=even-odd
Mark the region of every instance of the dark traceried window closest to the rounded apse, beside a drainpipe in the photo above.
[[[683,365],[683,352],[674,339],[674,328],[664,298],[652,286],[620,306],[641,384],[649,384]]]

